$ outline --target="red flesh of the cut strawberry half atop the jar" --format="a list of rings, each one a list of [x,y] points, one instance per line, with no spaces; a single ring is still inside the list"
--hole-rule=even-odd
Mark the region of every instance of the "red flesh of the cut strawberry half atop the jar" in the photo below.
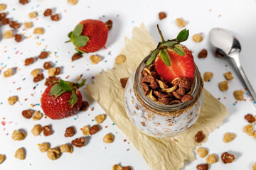
[[[164,78],[166,81],[173,81],[176,77],[187,77],[193,83],[195,65],[193,61],[193,55],[190,50],[183,46],[183,50],[186,55],[177,55],[174,50],[167,48],[167,52],[171,59],[171,66],[164,64],[160,55],[157,55],[155,60],[156,72]]]

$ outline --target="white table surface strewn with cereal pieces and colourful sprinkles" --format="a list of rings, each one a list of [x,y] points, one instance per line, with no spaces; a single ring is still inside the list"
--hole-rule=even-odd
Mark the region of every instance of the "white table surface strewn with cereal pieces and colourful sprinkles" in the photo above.
[[[13,18],[19,23],[32,21],[33,28],[43,27],[43,35],[33,35],[33,28],[25,30],[23,26],[18,29],[18,33],[24,33],[28,37],[22,42],[15,42],[14,39],[2,39],[5,30],[9,26],[0,26],[0,154],[6,154],[6,160],[0,165],[0,169],[112,169],[113,164],[122,166],[132,166],[134,170],[147,170],[146,164],[137,149],[126,140],[126,137],[115,126],[112,120],[107,118],[102,123],[102,130],[92,137],[87,138],[85,147],[75,148],[73,154],[64,153],[60,159],[51,161],[46,153],[41,153],[37,144],[41,142],[50,142],[51,147],[58,147],[76,137],[82,137],[80,128],[84,125],[94,125],[92,121],[95,115],[105,113],[102,108],[80,89],[83,99],[90,102],[87,111],[78,113],[70,118],[63,120],[50,120],[42,118],[39,121],[27,120],[21,115],[21,111],[31,108],[31,104],[40,103],[40,97],[46,86],[45,80],[33,83],[33,77],[30,72],[36,68],[43,68],[46,61],[53,62],[56,67],[62,67],[63,73],[60,78],[73,81],[83,74],[87,83],[92,83],[92,77],[100,73],[102,69],[112,69],[115,57],[120,49],[124,47],[124,38],[132,38],[132,28],[144,23],[155,42],[160,40],[156,30],[156,24],[164,33],[165,38],[175,38],[181,30],[176,26],[176,18],[183,18],[188,21],[186,28],[190,30],[190,38],[183,44],[193,50],[196,64],[201,73],[213,72],[214,77],[210,82],[205,83],[206,89],[216,98],[227,106],[230,115],[223,120],[223,125],[214,130],[208,136],[208,141],[202,146],[209,149],[210,153],[218,154],[219,161],[210,166],[210,169],[252,169],[252,164],[256,162],[255,139],[242,132],[243,127],[247,125],[244,115],[252,113],[256,115],[255,106],[250,101],[251,97],[245,95],[246,101],[235,103],[233,91],[244,89],[238,74],[233,69],[232,64],[225,59],[217,59],[210,51],[208,43],[208,33],[211,28],[220,27],[232,30],[240,40],[242,45],[241,62],[245,69],[247,77],[252,86],[256,89],[256,1],[255,0],[226,0],[226,1],[206,1],[206,0],[181,0],[181,1],[82,1],[75,6],[67,3],[67,0],[31,0],[25,6],[18,4],[18,0],[0,0],[0,4],[7,4],[6,12],[8,18]],[[54,13],[60,13],[60,21],[53,22],[50,18],[43,16],[46,8],[54,8]],[[38,17],[29,18],[28,13],[38,12]],[[159,21],[158,13],[164,11],[167,18]],[[83,19],[92,18],[107,21],[111,19],[114,22],[110,30],[106,49],[92,54],[86,54],[80,60],[70,62],[75,53],[73,44],[64,43],[68,40],[68,33],[73,30],[78,22]],[[193,42],[192,35],[196,33],[203,34],[203,42]],[[198,59],[198,52],[202,48],[208,50],[206,59]],[[40,52],[46,49],[51,52],[46,60],[37,60],[28,67],[23,65],[27,57],[36,57]],[[90,55],[100,55],[102,61],[97,65],[90,62]],[[3,72],[7,68],[18,67],[14,76],[4,78]],[[229,81],[228,91],[220,91],[218,82],[225,80],[223,73],[231,71],[235,79]],[[48,77],[44,70],[43,74]],[[68,79],[66,77],[70,76]],[[24,79],[24,80],[23,80]],[[36,86],[35,89],[33,87]],[[21,89],[18,89],[20,88]],[[31,95],[33,94],[33,96]],[[7,98],[17,95],[18,103],[9,106]],[[92,109],[93,108],[93,109]],[[35,111],[42,111],[40,106],[34,106]],[[93,110],[93,111],[92,111]],[[6,123],[3,125],[2,123]],[[33,137],[31,128],[36,124],[52,125],[53,135],[44,137],[43,135]],[[74,137],[64,137],[65,128],[70,125],[75,126],[77,132]],[[254,125],[255,128],[255,125]],[[14,141],[11,134],[14,130],[23,129],[28,133],[25,140]],[[107,132],[114,134],[114,142],[105,144],[102,138]],[[236,137],[233,142],[228,144],[223,142],[225,132],[234,132]],[[143,141],[142,141],[143,142]],[[14,158],[14,152],[19,147],[26,149],[26,159],[21,161]],[[235,154],[235,162],[232,164],[223,164],[220,155],[223,152]],[[195,154],[196,155],[196,154]],[[186,162],[183,169],[196,169],[197,164],[205,163],[206,159],[199,158]]]

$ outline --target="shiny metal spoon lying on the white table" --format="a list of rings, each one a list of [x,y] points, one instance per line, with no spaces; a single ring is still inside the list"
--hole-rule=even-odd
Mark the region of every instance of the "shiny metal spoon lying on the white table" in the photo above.
[[[247,86],[253,100],[256,102],[256,93],[252,88],[250,81],[247,79],[245,72],[242,69],[239,54],[241,50],[240,43],[230,31],[223,28],[213,28],[210,30],[210,42],[218,50],[220,54],[226,55],[233,59],[235,66],[238,68],[238,72],[245,86]],[[256,103],[255,103],[256,106]]]

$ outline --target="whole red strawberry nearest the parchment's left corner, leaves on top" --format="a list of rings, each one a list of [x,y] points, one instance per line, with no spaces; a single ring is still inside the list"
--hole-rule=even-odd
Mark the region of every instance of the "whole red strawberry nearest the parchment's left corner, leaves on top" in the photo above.
[[[60,79],[46,88],[41,98],[41,106],[49,118],[67,118],[79,111],[82,95],[78,88],[85,85],[85,79],[78,84],[79,79],[75,83]]]

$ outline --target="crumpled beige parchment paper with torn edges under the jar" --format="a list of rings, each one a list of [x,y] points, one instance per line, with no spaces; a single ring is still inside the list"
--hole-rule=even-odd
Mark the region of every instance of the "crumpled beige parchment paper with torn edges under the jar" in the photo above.
[[[145,26],[134,28],[133,38],[125,38],[125,47],[120,54],[127,57],[124,64],[115,64],[114,68],[97,74],[94,84],[87,84],[85,90],[110,116],[127,139],[138,149],[152,170],[173,170],[183,167],[184,161],[193,161],[193,150],[200,145],[194,137],[198,130],[205,135],[217,128],[228,115],[225,106],[204,89],[204,101],[201,114],[191,129],[172,138],[154,138],[144,135],[131,123],[124,109],[124,89],[120,78],[129,77],[139,63],[156,47]],[[174,142],[176,140],[176,142]]]

